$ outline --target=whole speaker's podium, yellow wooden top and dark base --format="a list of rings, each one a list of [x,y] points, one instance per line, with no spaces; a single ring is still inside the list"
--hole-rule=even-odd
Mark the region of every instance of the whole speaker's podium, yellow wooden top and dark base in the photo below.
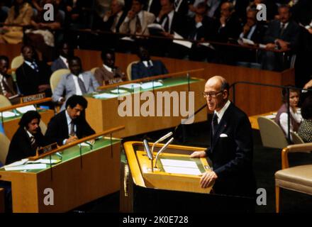
[[[149,145],[152,146],[153,143]],[[162,146],[163,144],[155,145],[154,157]],[[160,154],[157,168],[152,171],[151,161],[142,142],[129,141],[123,143],[123,147],[127,163],[121,163],[121,212],[253,211],[250,206],[253,201],[250,199],[213,194],[213,186],[201,188],[201,175],[197,175],[194,169],[197,167],[200,174],[211,171],[210,161],[206,158],[191,158],[189,155],[206,148],[169,145],[167,150]],[[178,165],[181,163],[186,165],[179,169]],[[155,165],[155,160],[153,164]],[[169,165],[172,167],[168,167]],[[186,168],[190,169],[189,173],[181,173]]]

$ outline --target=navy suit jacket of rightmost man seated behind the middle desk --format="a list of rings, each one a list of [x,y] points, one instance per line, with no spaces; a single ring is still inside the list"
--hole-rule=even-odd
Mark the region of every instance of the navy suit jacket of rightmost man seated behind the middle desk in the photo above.
[[[168,73],[164,63],[160,60],[152,60],[152,65],[152,67],[145,67],[143,62],[133,64],[131,67],[131,79],[141,79]]]

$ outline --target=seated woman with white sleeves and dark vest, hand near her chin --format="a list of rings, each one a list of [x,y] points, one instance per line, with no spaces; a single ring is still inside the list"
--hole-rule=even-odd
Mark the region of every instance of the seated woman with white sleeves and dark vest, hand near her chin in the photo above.
[[[301,113],[299,112],[299,89],[289,89],[289,111],[290,111],[290,131],[298,132],[302,121]],[[288,110],[287,110],[287,90],[282,89],[283,104],[277,111],[275,122],[283,129],[286,138],[288,138]]]

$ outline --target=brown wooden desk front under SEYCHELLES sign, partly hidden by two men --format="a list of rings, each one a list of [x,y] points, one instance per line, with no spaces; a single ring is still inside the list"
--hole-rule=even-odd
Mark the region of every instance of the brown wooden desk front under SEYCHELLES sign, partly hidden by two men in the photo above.
[[[16,112],[20,115],[4,118],[4,132],[6,133],[6,137],[9,138],[9,140],[11,140],[14,133],[16,133],[18,129],[18,122],[21,120],[22,114],[18,111]],[[43,121],[48,126],[50,119],[52,116],[54,116],[54,111],[51,109],[40,109],[38,112],[41,116],[41,121]]]

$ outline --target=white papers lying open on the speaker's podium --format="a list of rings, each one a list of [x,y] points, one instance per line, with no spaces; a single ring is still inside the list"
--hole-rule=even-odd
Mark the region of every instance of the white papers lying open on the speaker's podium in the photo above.
[[[182,174],[182,175],[201,175],[196,162],[184,160],[160,159],[162,167],[167,173]]]

